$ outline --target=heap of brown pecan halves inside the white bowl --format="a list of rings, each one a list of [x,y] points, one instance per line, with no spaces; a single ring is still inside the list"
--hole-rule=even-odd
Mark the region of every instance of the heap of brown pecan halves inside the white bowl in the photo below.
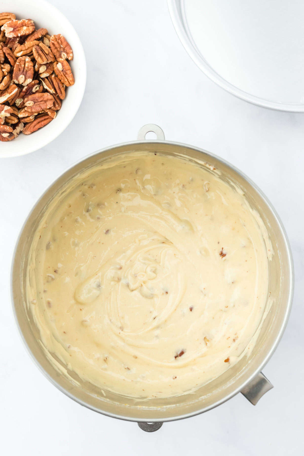
[[[74,84],[73,51],[61,34],[13,13],[0,13],[0,27],[0,141],[10,141],[55,119]]]

